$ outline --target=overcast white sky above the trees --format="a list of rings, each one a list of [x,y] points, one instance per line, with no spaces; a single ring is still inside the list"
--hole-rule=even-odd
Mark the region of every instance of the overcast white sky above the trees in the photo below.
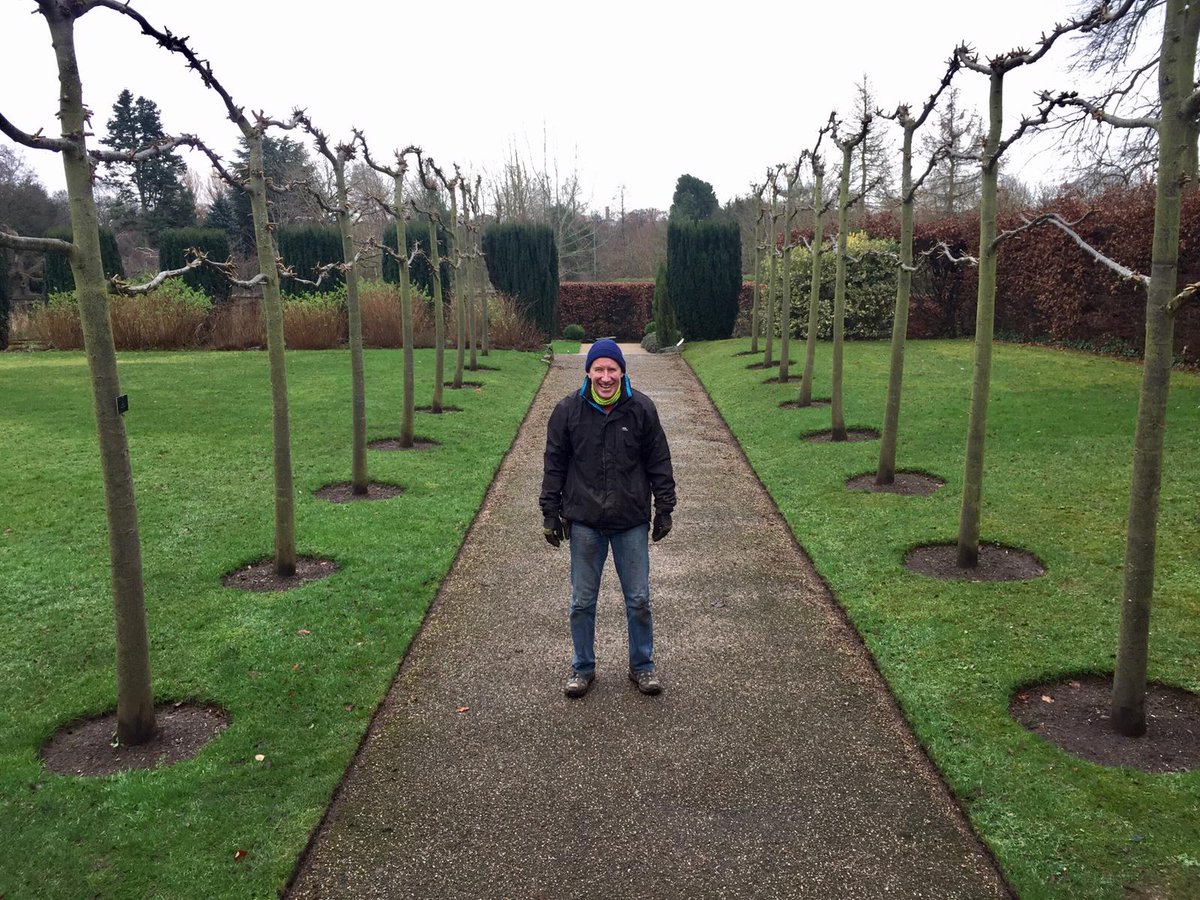
[[[545,136],[550,160],[560,170],[577,169],[601,211],[619,205],[623,186],[626,208],[665,210],[683,173],[710,181],[725,202],[768,164],[810,146],[832,109],[850,115],[863,73],[884,108],[919,104],[956,43],[984,55],[1028,47],[1075,10],[1074,0],[133,6],[155,25],[190,35],[248,109],[283,118],[305,107],[331,138],[348,138],[356,126],[378,156],[415,143],[472,173],[496,170],[511,146],[540,162]],[[6,0],[0,11],[0,110],[25,131],[56,134],[54,55],[34,8],[29,0]],[[1006,119],[1015,124],[1037,89],[1068,86],[1060,65],[1068,43],[1009,76]],[[238,133],[220,98],[132,19],[95,10],[79,20],[77,46],[97,132],[128,88],[160,106],[169,133],[197,133],[232,155]],[[342,65],[347,71],[338,73]],[[964,100],[982,103],[984,77],[961,72],[956,82]],[[469,113],[456,102],[467,98]],[[62,187],[53,155],[24,154],[49,190]],[[1021,149],[1009,170],[1039,181],[1058,156]],[[188,162],[206,170],[199,156]]]

